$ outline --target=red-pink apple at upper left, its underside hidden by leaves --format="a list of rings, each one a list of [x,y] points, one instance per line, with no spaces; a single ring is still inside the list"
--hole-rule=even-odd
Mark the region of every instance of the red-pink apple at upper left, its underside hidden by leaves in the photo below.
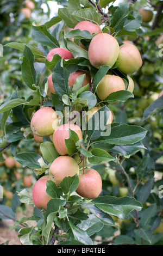
[[[55,54],[58,54],[61,58],[64,58],[64,59],[73,59],[74,58],[73,54],[70,51],[68,51],[66,48],[58,47],[58,48],[52,49],[47,54],[47,59],[48,59],[49,62],[52,61],[53,56]]]

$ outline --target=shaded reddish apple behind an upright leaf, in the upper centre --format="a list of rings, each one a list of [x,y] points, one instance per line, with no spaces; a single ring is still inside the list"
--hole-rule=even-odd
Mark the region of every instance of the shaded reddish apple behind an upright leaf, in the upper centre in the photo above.
[[[91,84],[91,76],[90,76],[89,72],[86,70],[79,69],[70,74],[70,76],[68,78],[68,86],[72,87],[74,85],[74,83],[76,82],[77,77],[80,75],[84,75],[84,74],[85,74],[85,80],[82,84],[82,87],[86,86],[88,83]]]

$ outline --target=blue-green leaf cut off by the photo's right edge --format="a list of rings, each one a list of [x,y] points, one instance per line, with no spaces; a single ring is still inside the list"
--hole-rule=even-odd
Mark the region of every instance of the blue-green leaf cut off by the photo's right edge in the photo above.
[[[159,99],[153,101],[143,113],[142,121],[145,121],[150,115],[156,114],[163,109],[163,95]]]

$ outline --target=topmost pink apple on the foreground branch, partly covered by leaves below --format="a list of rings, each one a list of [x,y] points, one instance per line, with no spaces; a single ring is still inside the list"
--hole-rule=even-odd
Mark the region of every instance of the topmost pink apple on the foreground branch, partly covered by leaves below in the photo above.
[[[90,32],[90,34],[102,33],[101,28],[98,25],[96,25],[90,21],[81,21],[73,29],[80,29],[80,31],[87,30]],[[73,38],[72,38],[72,40],[73,40]],[[79,45],[80,45],[80,47],[84,48],[85,50],[88,50],[88,48],[86,46],[84,46],[82,44],[82,42],[80,42]]]

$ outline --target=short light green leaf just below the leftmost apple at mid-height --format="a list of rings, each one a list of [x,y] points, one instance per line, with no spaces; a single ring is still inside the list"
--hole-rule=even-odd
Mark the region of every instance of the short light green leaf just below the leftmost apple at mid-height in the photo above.
[[[54,144],[51,142],[43,142],[40,144],[40,149],[43,158],[48,161],[49,163],[52,163],[58,156],[58,152],[54,147]]]

